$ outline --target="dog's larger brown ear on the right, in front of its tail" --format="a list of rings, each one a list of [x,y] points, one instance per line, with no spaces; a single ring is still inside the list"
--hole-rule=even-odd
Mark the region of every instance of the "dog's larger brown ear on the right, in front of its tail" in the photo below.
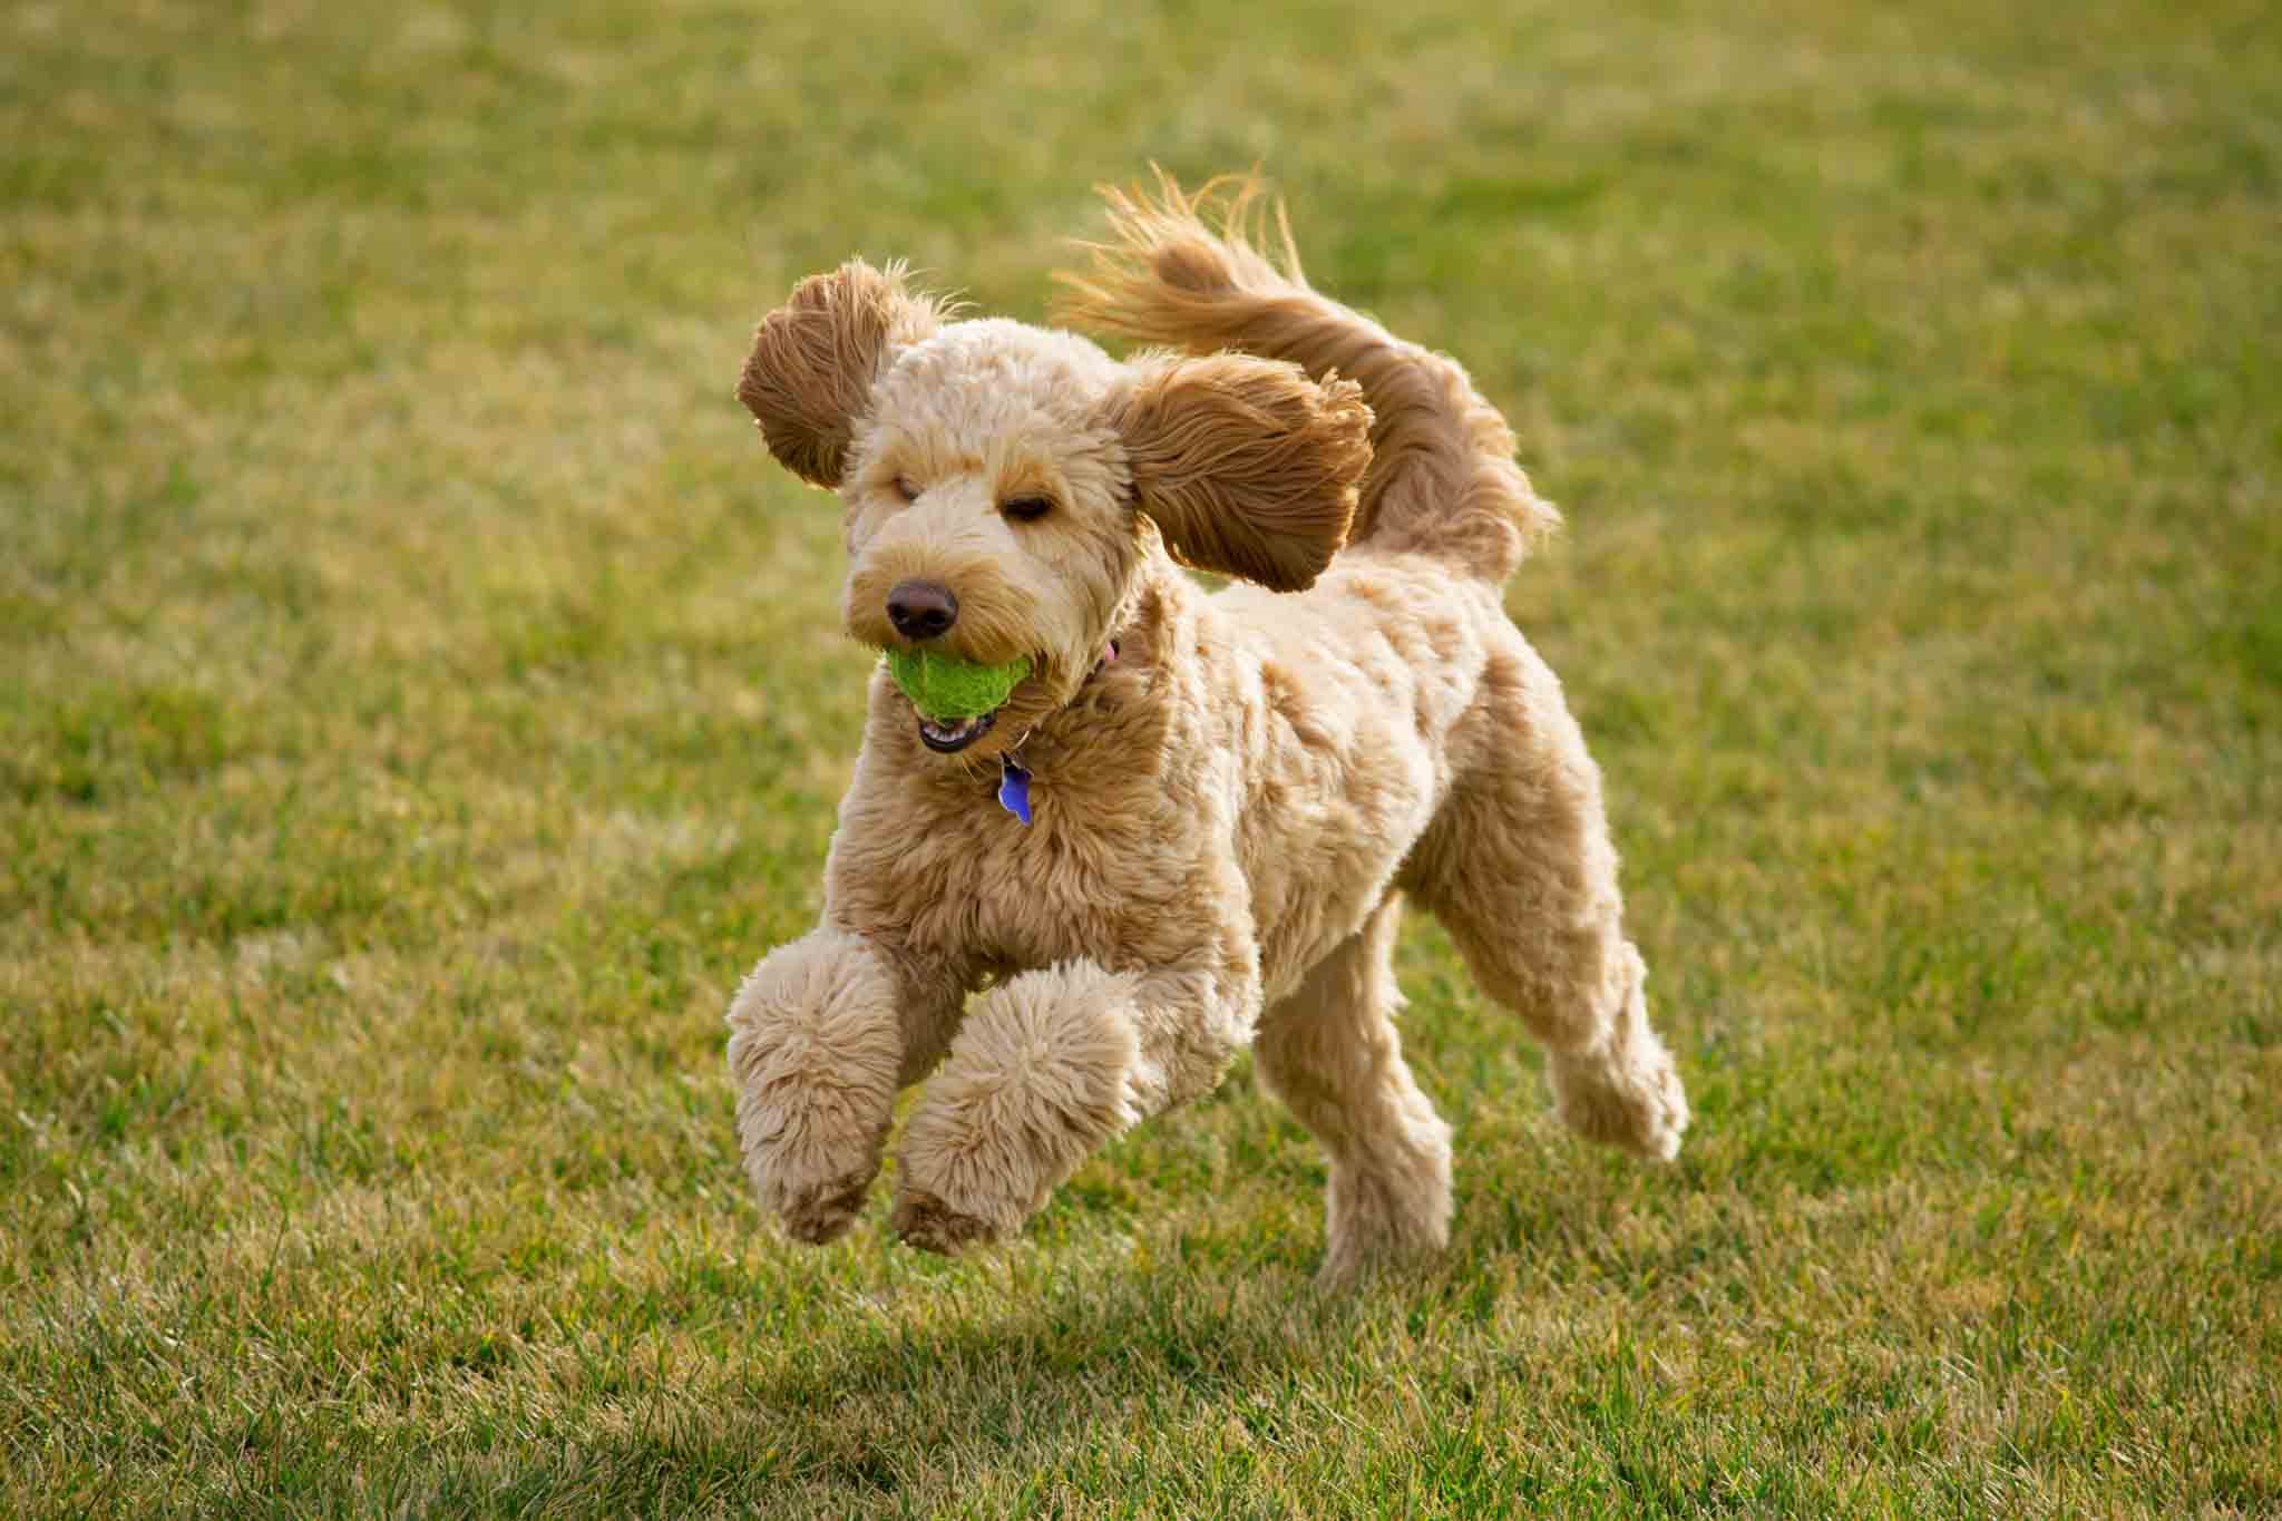
[[[1248,353],[1152,356],[1127,372],[1107,422],[1173,559],[1273,591],[1312,586],[1346,543],[1371,463],[1362,388]]]

